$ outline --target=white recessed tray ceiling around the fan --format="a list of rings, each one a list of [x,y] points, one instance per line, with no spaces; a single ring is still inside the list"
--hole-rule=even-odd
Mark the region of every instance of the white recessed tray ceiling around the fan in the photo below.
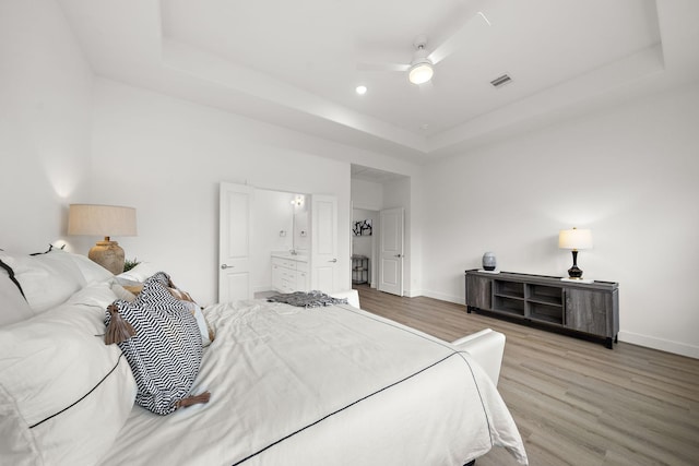
[[[696,79],[696,3],[59,0],[99,75],[413,162]],[[428,84],[358,69],[420,34],[454,45]]]

